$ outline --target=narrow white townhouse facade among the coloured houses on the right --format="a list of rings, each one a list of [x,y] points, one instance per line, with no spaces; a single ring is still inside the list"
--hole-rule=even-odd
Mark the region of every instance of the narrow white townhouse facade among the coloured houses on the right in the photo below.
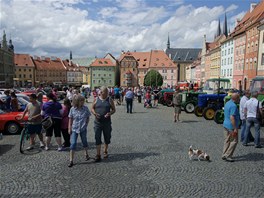
[[[221,43],[221,77],[230,79],[233,87],[234,41],[228,37]]]

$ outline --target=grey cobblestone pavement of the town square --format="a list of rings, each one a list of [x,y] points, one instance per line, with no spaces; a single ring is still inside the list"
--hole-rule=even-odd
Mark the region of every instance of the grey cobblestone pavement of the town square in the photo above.
[[[145,109],[133,114],[117,106],[113,116],[109,159],[101,163],[68,151],[19,153],[19,136],[0,141],[0,197],[264,197],[264,148],[239,143],[235,162],[221,159],[223,129],[213,121],[173,108]],[[89,124],[90,155],[95,156],[93,118]],[[261,132],[263,144],[263,129]],[[54,139],[54,138],[53,138]],[[54,141],[54,140],[53,140]],[[204,149],[211,162],[190,161],[190,145]]]

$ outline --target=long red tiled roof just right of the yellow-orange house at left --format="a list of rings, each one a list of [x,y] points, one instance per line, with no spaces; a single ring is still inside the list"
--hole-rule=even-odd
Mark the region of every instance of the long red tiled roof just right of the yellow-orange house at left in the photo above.
[[[52,60],[48,57],[41,59],[40,57],[34,57],[33,59],[36,68],[38,70],[64,70],[65,67],[60,58],[53,58]]]

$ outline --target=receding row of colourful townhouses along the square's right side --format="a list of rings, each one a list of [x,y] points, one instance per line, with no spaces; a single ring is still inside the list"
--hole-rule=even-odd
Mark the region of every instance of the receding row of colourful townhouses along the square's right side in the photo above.
[[[220,21],[213,42],[204,36],[202,52],[186,68],[186,80],[199,84],[209,78],[228,78],[231,87],[247,89],[253,78],[264,76],[264,1],[250,4],[249,11],[227,32]]]

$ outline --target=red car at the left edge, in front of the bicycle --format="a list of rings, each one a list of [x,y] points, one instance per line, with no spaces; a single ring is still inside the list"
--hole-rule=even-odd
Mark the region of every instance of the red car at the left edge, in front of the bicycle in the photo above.
[[[21,132],[23,125],[16,119],[23,112],[4,112],[0,110],[0,132],[7,134],[18,134]],[[27,120],[25,116],[25,120]]]

